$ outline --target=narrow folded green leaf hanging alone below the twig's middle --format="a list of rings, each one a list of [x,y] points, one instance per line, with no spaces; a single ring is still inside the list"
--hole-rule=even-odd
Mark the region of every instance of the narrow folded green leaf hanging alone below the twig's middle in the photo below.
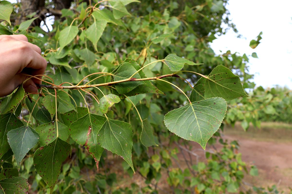
[[[153,129],[148,121],[148,119],[143,120],[143,128],[140,136],[141,143],[145,147],[152,145],[158,146],[154,141]]]

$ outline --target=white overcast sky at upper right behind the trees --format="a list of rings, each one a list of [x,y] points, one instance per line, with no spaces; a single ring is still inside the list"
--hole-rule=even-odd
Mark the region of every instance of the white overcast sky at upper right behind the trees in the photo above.
[[[249,70],[257,86],[287,86],[292,89],[292,0],[230,0],[230,19],[242,38],[232,30],[211,44],[215,53],[239,52],[250,58]],[[256,49],[249,42],[263,31]]]

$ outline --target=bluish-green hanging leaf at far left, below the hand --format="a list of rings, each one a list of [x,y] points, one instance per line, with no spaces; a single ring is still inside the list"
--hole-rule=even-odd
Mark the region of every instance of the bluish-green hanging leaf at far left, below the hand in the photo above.
[[[39,134],[27,125],[9,131],[7,139],[14,153],[16,164],[20,168],[24,156],[39,142]]]

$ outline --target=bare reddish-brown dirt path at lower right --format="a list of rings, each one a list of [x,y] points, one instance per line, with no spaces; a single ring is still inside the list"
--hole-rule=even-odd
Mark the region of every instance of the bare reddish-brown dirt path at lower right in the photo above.
[[[246,181],[261,186],[279,184],[279,188],[284,190],[292,186],[292,143],[258,141],[248,135],[230,135],[228,132],[224,138],[238,140],[242,160],[258,167],[259,176],[246,176]]]

